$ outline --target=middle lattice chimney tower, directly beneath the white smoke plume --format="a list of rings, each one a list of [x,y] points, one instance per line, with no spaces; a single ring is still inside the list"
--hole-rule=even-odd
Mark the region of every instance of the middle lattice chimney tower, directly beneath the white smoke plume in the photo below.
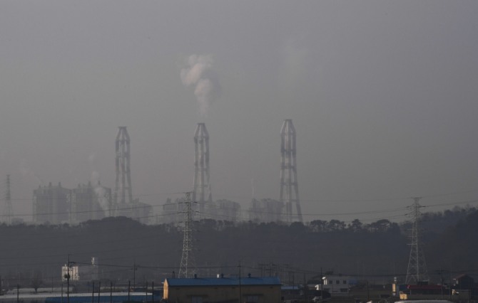
[[[205,203],[213,201],[209,183],[209,134],[204,123],[198,123],[194,134],[193,202],[199,203],[199,216],[204,217]]]

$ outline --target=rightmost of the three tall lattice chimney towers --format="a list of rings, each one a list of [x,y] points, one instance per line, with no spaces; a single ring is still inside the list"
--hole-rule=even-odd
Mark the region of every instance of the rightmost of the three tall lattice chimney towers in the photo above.
[[[296,218],[302,222],[295,154],[295,128],[292,119],[285,119],[280,130],[280,202],[285,205],[287,222],[293,221],[293,204]]]

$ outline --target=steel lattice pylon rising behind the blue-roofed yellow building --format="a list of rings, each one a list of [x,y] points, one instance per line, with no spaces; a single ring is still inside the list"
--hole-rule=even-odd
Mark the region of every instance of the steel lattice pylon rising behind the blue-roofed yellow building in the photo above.
[[[183,256],[181,257],[178,277],[189,277],[188,274],[195,274],[193,254],[193,202],[190,198],[191,193],[186,193],[182,211],[182,213],[184,213]]]

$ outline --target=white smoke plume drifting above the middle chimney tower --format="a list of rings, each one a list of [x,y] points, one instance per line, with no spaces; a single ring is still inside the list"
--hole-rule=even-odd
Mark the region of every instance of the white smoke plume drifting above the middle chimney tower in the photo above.
[[[200,115],[207,115],[209,105],[220,95],[218,77],[213,70],[210,55],[190,55],[187,67],[181,69],[181,80],[186,87],[194,88]]]

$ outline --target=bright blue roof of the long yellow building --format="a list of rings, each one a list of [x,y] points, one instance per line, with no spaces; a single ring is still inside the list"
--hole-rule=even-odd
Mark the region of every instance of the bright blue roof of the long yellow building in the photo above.
[[[168,286],[238,286],[239,279],[236,277],[218,278],[166,278]],[[278,277],[241,277],[240,285],[280,285]]]

